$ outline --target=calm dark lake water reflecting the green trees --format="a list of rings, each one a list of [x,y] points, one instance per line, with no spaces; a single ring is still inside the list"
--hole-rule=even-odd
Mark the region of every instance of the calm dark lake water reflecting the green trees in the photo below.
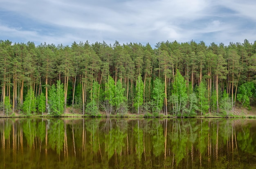
[[[256,120],[0,119],[0,168],[256,168]]]

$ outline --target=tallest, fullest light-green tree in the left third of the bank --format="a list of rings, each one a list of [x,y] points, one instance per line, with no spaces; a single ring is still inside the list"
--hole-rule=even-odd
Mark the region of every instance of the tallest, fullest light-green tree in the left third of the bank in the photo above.
[[[48,113],[59,116],[64,112],[64,90],[61,81],[57,81],[57,85],[53,84],[49,90],[49,108]]]

